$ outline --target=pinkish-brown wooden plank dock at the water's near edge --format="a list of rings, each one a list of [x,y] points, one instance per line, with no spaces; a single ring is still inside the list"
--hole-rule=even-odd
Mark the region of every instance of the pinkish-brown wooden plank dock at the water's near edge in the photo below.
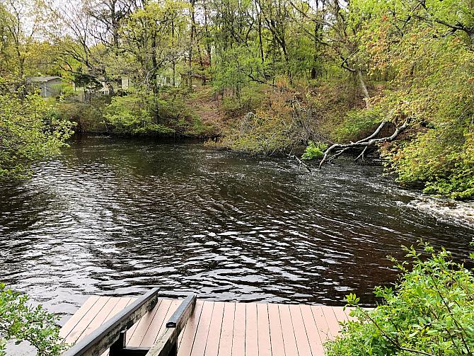
[[[73,345],[134,302],[129,297],[89,297],[62,327]],[[126,345],[151,348],[182,300],[158,298],[126,333]],[[340,330],[348,311],[339,306],[197,300],[176,343],[180,356],[322,356],[323,343]],[[108,355],[108,351],[103,355]]]

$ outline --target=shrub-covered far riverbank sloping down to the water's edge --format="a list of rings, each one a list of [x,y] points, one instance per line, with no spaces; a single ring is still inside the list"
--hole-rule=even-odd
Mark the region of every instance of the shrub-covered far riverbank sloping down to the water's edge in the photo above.
[[[444,132],[444,126],[409,120],[406,115],[402,125],[403,117],[388,117],[395,115],[394,109],[383,107],[383,100],[381,96],[380,103],[366,107],[357,86],[346,80],[312,87],[249,84],[238,95],[208,85],[193,91],[163,88],[150,98],[129,94],[97,103],[60,103],[59,115],[76,122],[79,132],[198,137],[209,147],[264,156],[300,157],[315,142],[321,150],[310,156],[320,161],[325,148],[340,143],[331,154],[339,156],[338,150],[343,150],[364,164],[373,157],[381,159],[386,172],[394,173],[405,188],[456,200],[472,197],[470,134],[462,127]],[[447,135],[447,147],[436,140],[438,134]],[[347,143],[354,147],[345,148]]]

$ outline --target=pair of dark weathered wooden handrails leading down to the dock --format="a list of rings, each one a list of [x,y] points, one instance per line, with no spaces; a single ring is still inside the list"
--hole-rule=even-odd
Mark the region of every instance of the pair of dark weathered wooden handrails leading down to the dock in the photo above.
[[[183,300],[175,313],[166,323],[166,330],[158,336],[151,348],[128,348],[127,329],[156,306],[158,288],[151,289],[144,296],[127,306],[119,314],[110,318],[102,326],[83,340],[76,343],[62,356],[100,356],[109,350],[110,356],[175,356],[178,352],[178,335],[192,315],[196,296],[191,295]]]

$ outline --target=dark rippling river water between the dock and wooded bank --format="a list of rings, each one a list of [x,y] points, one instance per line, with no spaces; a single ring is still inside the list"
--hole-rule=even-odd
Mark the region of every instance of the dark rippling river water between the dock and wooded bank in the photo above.
[[[50,311],[90,294],[342,305],[394,282],[423,238],[468,255],[474,228],[416,209],[381,168],[202,144],[82,137],[0,188],[0,280]]]

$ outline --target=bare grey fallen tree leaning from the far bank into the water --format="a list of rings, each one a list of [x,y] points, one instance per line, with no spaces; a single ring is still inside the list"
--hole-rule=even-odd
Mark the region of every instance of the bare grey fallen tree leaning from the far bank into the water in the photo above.
[[[396,127],[395,132],[393,132],[391,136],[376,138],[378,134],[380,134],[383,127],[385,127],[389,123],[388,121],[382,121],[380,125],[378,125],[376,130],[370,136],[364,139],[359,139],[359,141],[350,142],[349,144],[333,144],[332,146],[330,146],[328,149],[324,151],[323,159],[321,159],[321,161],[319,162],[318,167],[321,168],[324,163],[333,161],[334,159],[336,159],[338,156],[345,153],[349,149],[362,149],[361,154],[359,154],[359,156],[357,156],[355,160],[358,161],[359,159],[364,159],[366,151],[367,149],[369,149],[369,147],[374,147],[376,144],[381,144],[383,142],[392,142],[394,139],[398,137],[400,132],[403,132],[408,127],[409,122],[410,122],[410,119],[407,119],[405,120],[403,125]]]

